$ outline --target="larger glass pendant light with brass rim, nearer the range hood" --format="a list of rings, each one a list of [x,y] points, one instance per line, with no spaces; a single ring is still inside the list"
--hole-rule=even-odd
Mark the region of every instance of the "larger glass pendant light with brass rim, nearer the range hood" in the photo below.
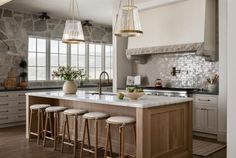
[[[138,7],[134,6],[134,0],[128,0],[128,4],[121,7],[115,24],[115,36],[134,37],[143,34]]]

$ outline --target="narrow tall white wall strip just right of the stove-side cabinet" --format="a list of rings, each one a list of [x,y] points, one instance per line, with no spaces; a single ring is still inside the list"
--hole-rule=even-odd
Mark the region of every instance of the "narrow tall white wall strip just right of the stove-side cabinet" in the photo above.
[[[227,3],[219,0],[218,141],[226,141],[227,125]]]

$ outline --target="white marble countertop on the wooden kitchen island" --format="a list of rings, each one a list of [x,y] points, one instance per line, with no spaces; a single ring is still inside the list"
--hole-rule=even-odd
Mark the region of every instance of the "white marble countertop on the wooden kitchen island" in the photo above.
[[[103,95],[98,95],[94,94],[93,91],[77,91],[76,94],[72,95],[66,95],[62,91],[34,92],[34,93],[26,93],[26,95],[44,97],[44,98],[53,98],[53,99],[81,101],[88,103],[125,106],[133,108],[150,108],[156,106],[164,106],[169,104],[188,102],[193,100],[192,98],[151,96],[151,95],[144,95],[138,100],[130,100],[126,97],[123,100],[119,100],[116,94],[103,92]]]

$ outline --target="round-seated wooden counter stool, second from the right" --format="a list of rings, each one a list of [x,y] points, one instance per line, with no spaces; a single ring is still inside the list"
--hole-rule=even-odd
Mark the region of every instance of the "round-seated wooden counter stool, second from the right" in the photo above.
[[[103,112],[90,112],[83,115],[84,119],[84,129],[83,129],[83,138],[81,144],[80,158],[83,158],[83,151],[87,151],[94,154],[94,157],[98,157],[98,121],[105,120],[109,117],[109,114]],[[94,150],[91,149],[90,136],[89,136],[89,125],[88,120],[95,121],[95,145]],[[84,148],[85,134],[87,133],[88,138],[88,148]]]

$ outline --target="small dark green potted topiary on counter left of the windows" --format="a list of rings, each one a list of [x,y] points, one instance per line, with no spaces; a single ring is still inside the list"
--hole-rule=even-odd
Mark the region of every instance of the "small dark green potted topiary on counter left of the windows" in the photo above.
[[[24,59],[22,59],[19,66],[22,69],[22,72],[20,73],[20,87],[25,89],[28,86],[27,82],[28,73],[26,72],[27,62]]]

